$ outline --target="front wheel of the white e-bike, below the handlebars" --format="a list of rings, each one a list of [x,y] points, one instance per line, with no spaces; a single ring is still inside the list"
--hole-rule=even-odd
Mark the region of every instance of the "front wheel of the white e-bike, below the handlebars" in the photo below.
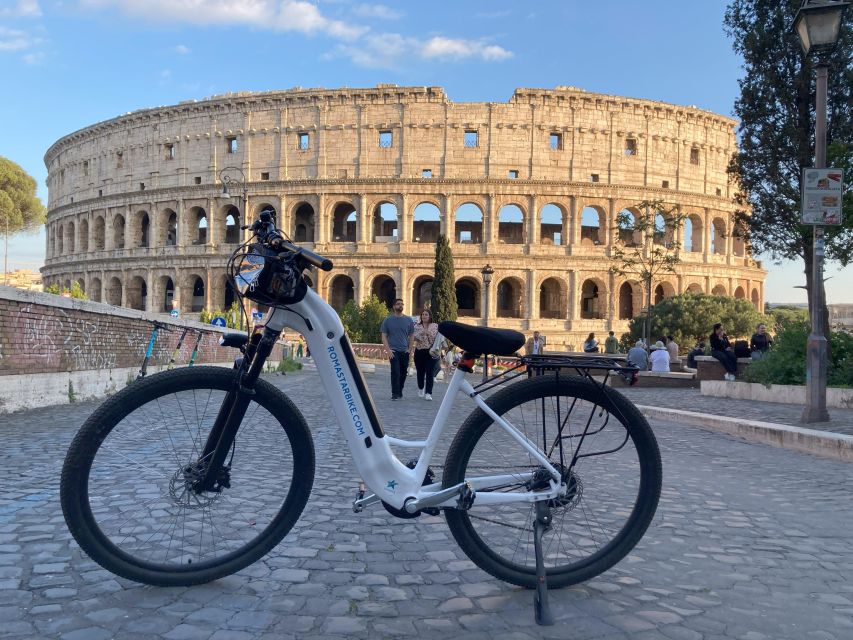
[[[299,410],[258,380],[219,491],[195,493],[184,473],[234,386],[221,367],[146,377],[104,402],[65,458],[60,494],[74,538],[120,576],[159,586],[229,575],[270,551],[296,522],[314,479]]]

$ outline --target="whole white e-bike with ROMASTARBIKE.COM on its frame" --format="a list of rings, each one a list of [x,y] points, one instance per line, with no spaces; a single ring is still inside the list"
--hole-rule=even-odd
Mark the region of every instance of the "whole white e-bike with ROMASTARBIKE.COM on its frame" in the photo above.
[[[146,584],[199,584],[252,564],[290,531],[311,491],[314,445],[296,406],[259,377],[285,328],[305,337],[363,480],[356,512],[379,503],[401,518],[443,511],[479,567],[537,589],[543,624],[547,588],[596,576],[636,545],[660,496],[660,453],[636,407],[590,375],[635,370],[529,356],[475,387],[466,377],[474,358],[512,355],[524,337],[445,322],[441,333],[464,355],[432,428],[423,440],[392,437],[340,318],[305,284],[305,269],[331,262],[283,239],[268,214],[252,230],[229,263],[232,283],[270,312],[251,335],[225,337],[243,352],[234,369],[173,369],[135,382],[101,404],[70,446],[62,508],[93,560]],[[436,479],[430,460],[460,395],[475,407]],[[418,455],[403,462],[395,448]]]

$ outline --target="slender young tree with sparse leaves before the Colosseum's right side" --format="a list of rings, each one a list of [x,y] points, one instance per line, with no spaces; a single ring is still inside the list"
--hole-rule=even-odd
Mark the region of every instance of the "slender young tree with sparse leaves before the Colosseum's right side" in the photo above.
[[[676,206],[667,206],[661,200],[643,200],[633,212],[622,210],[616,216],[614,231],[621,242],[613,247],[615,264],[610,271],[620,276],[635,276],[643,283],[646,344],[651,344],[652,325],[647,320],[654,283],[661,274],[675,273],[676,265],[681,262],[678,254],[684,218]]]

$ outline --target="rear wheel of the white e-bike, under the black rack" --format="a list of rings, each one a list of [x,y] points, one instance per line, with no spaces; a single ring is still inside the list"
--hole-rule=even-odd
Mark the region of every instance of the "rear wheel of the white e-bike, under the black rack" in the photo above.
[[[657,441],[637,408],[611,388],[603,396],[589,381],[554,375],[510,385],[487,402],[563,476],[542,540],[548,586],[588,580],[624,558],[648,528],[661,490]],[[544,467],[479,409],[460,427],[444,470],[444,487],[502,476],[478,495],[548,488]],[[532,502],[478,507],[475,499],[468,511],[446,509],[445,517],[481,569],[511,584],[536,585]]]

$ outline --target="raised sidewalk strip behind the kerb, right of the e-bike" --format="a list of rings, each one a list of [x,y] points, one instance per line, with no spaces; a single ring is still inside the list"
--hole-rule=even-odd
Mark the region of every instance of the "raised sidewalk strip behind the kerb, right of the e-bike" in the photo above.
[[[631,400],[641,405],[696,411],[730,418],[760,420],[793,427],[805,427],[820,431],[832,431],[853,435],[853,409],[835,409],[830,407],[829,422],[803,424],[801,404],[783,404],[781,402],[755,402],[734,398],[716,398],[703,396],[699,389],[620,389]]]

